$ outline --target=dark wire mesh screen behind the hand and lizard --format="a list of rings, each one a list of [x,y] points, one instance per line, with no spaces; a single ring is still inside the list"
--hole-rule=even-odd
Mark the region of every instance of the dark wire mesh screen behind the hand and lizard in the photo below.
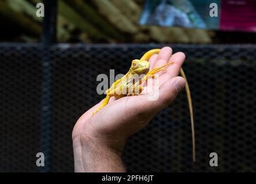
[[[71,133],[99,102],[98,74],[125,74],[132,59],[162,45],[0,45],[0,171],[73,172]],[[170,45],[187,56],[196,163],[183,90],[125,146],[128,171],[256,171],[256,46]],[[209,166],[217,152],[218,167]]]

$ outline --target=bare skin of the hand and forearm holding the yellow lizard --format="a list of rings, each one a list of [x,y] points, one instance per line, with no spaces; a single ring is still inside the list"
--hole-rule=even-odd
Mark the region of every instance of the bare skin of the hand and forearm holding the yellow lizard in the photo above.
[[[101,106],[102,102],[99,102],[77,120],[72,132],[76,172],[125,171],[121,160],[125,141],[172,103],[183,89],[185,80],[177,75],[184,59],[183,52],[172,55],[170,47],[164,47],[158,55],[150,57],[150,69],[175,61],[166,67],[166,72],[158,72],[160,86],[157,101],[148,100],[150,90],[145,90],[145,86],[140,95],[120,99],[111,97],[104,108],[91,116]]]

